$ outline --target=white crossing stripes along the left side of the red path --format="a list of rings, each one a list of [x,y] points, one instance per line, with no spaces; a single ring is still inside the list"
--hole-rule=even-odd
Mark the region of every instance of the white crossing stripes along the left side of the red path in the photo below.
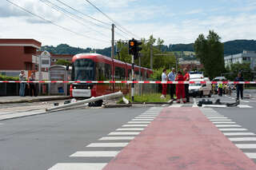
[[[103,136],[98,139],[98,142],[86,145],[83,151],[74,152],[70,158],[114,158],[130,143],[130,140],[134,140],[135,136],[138,136],[147,126],[154,121],[155,117],[161,112],[162,107],[154,107],[146,110],[145,113],[134,117],[131,121],[128,121],[122,128],[117,128],[114,132],[110,132],[107,136]],[[49,170],[101,170],[108,164],[105,162],[78,162],[73,163],[64,162],[58,163],[49,168]]]

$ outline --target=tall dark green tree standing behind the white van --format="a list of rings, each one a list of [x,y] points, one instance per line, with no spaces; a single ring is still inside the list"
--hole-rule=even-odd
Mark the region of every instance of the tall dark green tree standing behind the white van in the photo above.
[[[218,34],[209,31],[207,38],[199,34],[194,42],[196,57],[204,65],[206,76],[210,79],[220,76],[224,72],[224,45],[220,42]]]

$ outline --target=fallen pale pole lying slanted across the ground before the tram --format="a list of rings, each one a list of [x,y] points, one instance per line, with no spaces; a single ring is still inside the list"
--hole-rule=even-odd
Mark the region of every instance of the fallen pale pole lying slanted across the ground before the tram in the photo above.
[[[122,96],[123,96],[122,92],[119,91],[117,93],[106,94],[106,95],[103,95],[103,96],[100,96],[100,97],[90,97],[89,99],[86,99],[86,100],[77,101],[77,102],[66,104],[66,105],[58,105],[56,107],[46,109],[46,112],[56,110],[56,109],[68,108],[68,107],[75,106],[75,105],[82,105],[82,104],[86,104],[86,103],[90,103],[90,102],[94,102],[94,101],[99,101],[99,100],[113,99],[113,98],[122,97]]]

